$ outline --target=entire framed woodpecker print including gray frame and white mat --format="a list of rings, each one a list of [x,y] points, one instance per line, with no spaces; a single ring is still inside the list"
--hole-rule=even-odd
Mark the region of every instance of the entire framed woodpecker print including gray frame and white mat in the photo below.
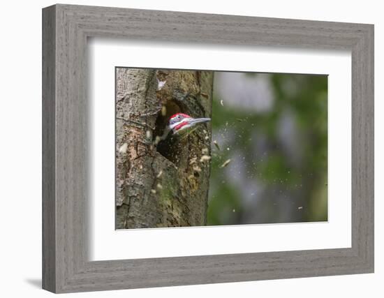
[[[374,27],[43,9],[43,288],[374,271]]]

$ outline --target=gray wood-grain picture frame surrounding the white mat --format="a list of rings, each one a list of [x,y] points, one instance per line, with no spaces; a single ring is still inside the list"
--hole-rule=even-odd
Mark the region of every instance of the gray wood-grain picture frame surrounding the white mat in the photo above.
[[[87,259],[87,38],[352,53],[352,247]],[[80,292],[374,271],[374,26],[55,5],[43,8],[43,288]]]

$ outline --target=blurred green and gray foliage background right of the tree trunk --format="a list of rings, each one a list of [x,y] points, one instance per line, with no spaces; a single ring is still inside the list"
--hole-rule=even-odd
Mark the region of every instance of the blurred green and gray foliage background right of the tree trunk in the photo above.
[[[222,76],[215,73],[219,149],[212,144],[207,225],[327,221],[327,76],[237,73],[247,83],[233,82],[230,94]],[[257,95],[251,84],[260,79],[269,108],[237,105]]]

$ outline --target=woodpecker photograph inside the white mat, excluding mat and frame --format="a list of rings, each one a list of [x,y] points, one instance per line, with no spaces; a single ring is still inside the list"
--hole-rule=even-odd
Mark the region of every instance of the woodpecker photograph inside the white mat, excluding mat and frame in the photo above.
[[[116,230],[327,221],[327,79],[116,67]]]

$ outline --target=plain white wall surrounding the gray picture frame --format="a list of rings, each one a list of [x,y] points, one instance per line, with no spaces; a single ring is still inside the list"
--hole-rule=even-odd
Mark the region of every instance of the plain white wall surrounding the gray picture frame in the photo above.
[[[91,292],[77,297],[383,297],[384,19],[381,1],[66,1],[66,3],[286,17],[375,24],[376,273],[145,290]],[[41,8],[54,1],[1,3],[0,263],[2,297],[46,297],[40,290],[41,251]],[[24,75],[20,78],[20,71]],[[381,167],[379,167],[381,165]],[[370,294],[367,295],[367,292]],[[23,295],[23,296],[22,296]]]

